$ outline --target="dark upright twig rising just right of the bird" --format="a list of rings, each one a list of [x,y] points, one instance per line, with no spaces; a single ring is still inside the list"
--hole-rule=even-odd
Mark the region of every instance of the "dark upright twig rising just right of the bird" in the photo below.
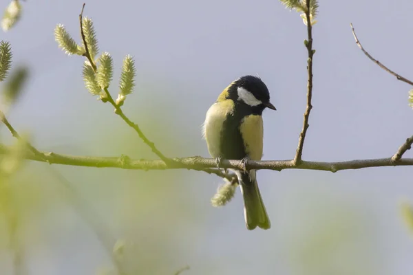
[[[304,113],[304,122],[303,128],[301,133],[299,133],[299,140],[297,151],[295,153],[294,162],[299,164],[301,162],[301,156],[303,154],[303,147],[304,147],[304,140],[306,139],[306,133],[308,126],[308,118],[310,117],[310,111],[313,109],[313,105],[311,104],[311,98],[313,96],[313,34],[312,34],[312,22],[310,19],[310,1],[307,2],[307,10],[306,10],[306,20],[307,20],[307,36],[308,40],[304,42],[308,52],[308,59],[307,59],[307,72],[308,72],[308,82],[307,82],[307,107],[306,112]]]

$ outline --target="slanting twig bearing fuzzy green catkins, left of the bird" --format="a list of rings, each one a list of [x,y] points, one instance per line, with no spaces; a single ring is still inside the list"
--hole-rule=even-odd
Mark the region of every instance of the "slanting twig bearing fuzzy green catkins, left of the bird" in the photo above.
[[[85,37],[85,32],[83,32],[83,10],[85,9],[85,3],[83,3],[82,6],[82,11],[81,14],[79,14],[79,21],[81,23],[81,36],[82,36],[82,40],[83,40],[83,45],[85,45],[85,54],[83,54],[87,60],[89,61],[90,65],[92,65],[92,68],[94,69],[94,72],[96,73],[96,63],[94,62],[92,56],[90,55],[90,52],[87,48],[87,42],[86,42],[86,37]],[[115,108],[115,113],[117,115],[120,116],[120,118],[123,119],[123,121],[126,122],[126,124],[128,124],[132,129],[134,129],[136,131],[136,133],[138,133],[139,137],[142,139],[143,142],[145,142],[145,144],[147,144],[147,146],[149,146],[152,150],[153,153],[155,153],[156,155],[158,155],[158,157],[160,159],[162,159],[164,162],[171,162],[171,159],[169,159],[168,157],[166,157],[165,155],[163,155],[158,148],[156,148],[155,144],[153,142],[151,142],[151,140],[149,140],[146,135],[142,132],[142,130],[140,130],[138,124],[132,122],[131,120],[129,120],[129,118],[127,118],[127,116],[125,115],[125,113],[123,113],[122,109],[120,108],[120,106],[118,104],[116,104],[116,102],[114,101],[114,99],[112,98],[111,94],[109,93],[109,90],[107,89],[107,87],[104,88],[105,94],[107,96],[107,101],[110,102],[110,104],[112,104],[112,106]]]

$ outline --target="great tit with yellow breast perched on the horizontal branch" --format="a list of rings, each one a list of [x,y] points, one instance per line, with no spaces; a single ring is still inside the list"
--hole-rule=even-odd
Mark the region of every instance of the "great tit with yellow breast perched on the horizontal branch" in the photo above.
[[[207,111],[204,139],[211,157],[220,159],[260,160],[264,128],[262,111],[275,110],[268,88],[257,76],[242,76],[222,91]],[[271,227],[255,170],[234,170],[244,198],[246,228]]]

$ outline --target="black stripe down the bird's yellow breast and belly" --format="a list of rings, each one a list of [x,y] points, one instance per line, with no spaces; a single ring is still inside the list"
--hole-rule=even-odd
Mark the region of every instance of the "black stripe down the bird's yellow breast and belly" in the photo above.
[[[239,100],[235,101],[235,104],[235,111],[226,118],[222,126],[220,151],[223,159],[243,159],[246,157],[240,123],[246,115],[262,114],[262,107],[252,108]]]

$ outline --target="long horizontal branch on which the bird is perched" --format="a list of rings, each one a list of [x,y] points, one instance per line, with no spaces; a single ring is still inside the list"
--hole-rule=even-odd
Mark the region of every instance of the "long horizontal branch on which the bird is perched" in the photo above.
[[[10,149],[8,146],[0,144],[0,155],[8,153]],[[71,166],[85,166],[96,168],[122,168],[129,170],[167,170],[167,169],[190,169],[202,170],[207,173],[213,173],[220,177],[224,177],[223,173],[216,169],[216,159],[204,157],[184,157],[174,158],[173,165],[165,163],[162,159],[147,160],[147,159],[129,159],[127,156],[121,157],[92,157],[92,156],[74,156],[61,155],[57,153],[41,152],[43,157],[31,154],[28,152],[25,159],[34,160],[37,162],[47,162],[50,164],[63,164]],[[220,168],[242,169],[243,163],[240,160],[222,159]],[[246,169],[256,170],[277,170],[284,169],[302,169],[302,170],[323,170],[330,172],[337,172],[339,170],[361,169],[370,167],[384,167],[384,166],[413,166],[413,158],[400,159],[398,162],[392,162],[392,157],[381,159],[354,159],[346,162],[311,162],[301,161],[297,164],[294,159],[290,160],[266,160],[253,161],[250,160],[246,164]],[[212,169],[215,168],[215,169]],[[225,177],[230,180],[231,175]]]

